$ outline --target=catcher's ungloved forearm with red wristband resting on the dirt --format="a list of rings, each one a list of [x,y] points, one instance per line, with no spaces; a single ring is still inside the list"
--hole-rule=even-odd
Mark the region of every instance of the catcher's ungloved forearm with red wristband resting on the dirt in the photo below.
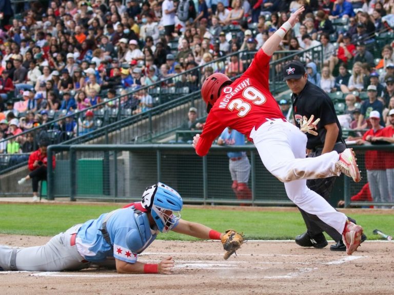
[[[129,263],[115,258],[117,273],[162,273],[163,275],[170,275],[171,268],[174,267],[172,257],[167,257],[158,264],[147,264],[136,261]]]

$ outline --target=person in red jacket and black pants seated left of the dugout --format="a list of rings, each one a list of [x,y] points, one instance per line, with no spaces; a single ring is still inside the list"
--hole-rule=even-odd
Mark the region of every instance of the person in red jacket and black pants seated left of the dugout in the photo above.
[[[33,202],[38,201],[38,182],[40,180],[47,180],[47,147],[48,142],[42,141],[38,150],[30,154],[28,167],[31,172],[28,176],[23,177],[21,178],[21,180],[18,181],[18,184],[20,185],[25,183],[29,179],[32,180]],[[53,168],[55,167],[55,157],[52,158],[52,166]]]

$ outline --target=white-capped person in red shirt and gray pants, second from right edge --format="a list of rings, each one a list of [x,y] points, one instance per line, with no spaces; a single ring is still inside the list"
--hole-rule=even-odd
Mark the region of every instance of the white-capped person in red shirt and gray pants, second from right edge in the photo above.
[[[367,142],[377,142],[383,136],[383,126],[379,124],[380,113],[378,111],[371,111],[369,113],[369,120],[372,128],[364,133],[363,138],[357,140],[357,144],[365,144]],[[378,150],[368,150],[365,152],[365,168],[367,170],[367,178],[369,182],[369,190],[375,202],[390,202],[390,197],[387,188],[386,176],[386,159],[385,152]],[[387,206],[376,206],[376,208],[388,208]]]

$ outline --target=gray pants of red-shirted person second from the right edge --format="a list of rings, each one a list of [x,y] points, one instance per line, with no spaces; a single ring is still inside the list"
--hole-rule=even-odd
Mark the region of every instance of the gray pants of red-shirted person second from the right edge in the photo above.
[[[387,188],[386,170],[367,170],[369,190],[374,202],[389,202],[390,195]],[[391,179],[392,181],[392,179]],[[389,208],[389,206],[375,206],[376,208]]]

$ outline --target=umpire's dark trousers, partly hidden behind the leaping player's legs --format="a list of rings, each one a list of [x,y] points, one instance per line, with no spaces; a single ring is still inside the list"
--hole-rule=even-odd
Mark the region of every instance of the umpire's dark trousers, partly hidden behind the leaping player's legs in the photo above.
[[[346,149],[346,145],[343,142],[339,142],[334,145],[334,151],[338,153],[342,153]],[[316,149],[313,153],[308,155],[308,158],[318,157],[322,154],[323,149]],[[328,201],[330,198],[330,193],[334,186],[335,181],[337,180],[337,176],[327,177],[327,178],[318,178],[318,179],[308,179],[306,181],[306,185],[313,191],[322,196],[325,200]],[[305,225],[310,236],[316,236],[323,231],[325,231],[334,241],[338,242],[342,240],[342,235],[338,233],[338,231],[320,220],[316,215],[311,215],[305,212],[300,207],[298,208],[301,212],[301,215],[305,221]],[[356,220],[349,218],[348,219],[356,223]]]

